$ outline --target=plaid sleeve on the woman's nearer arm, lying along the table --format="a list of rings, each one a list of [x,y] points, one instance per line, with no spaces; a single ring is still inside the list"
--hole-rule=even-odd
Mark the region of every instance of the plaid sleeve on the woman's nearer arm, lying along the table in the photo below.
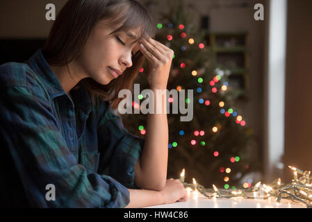
[[[17,169],[14,177],[22,181],[23,187],[17,189],[25,191],[32,207],[129,204],[129,191],[120,182],[77,163],[44,96],[26,86],[2,88],[1,92],[6,98],[0,99],[1,147],[8,150]],[[54,185],[55,200],[46,199],[47,185]]]

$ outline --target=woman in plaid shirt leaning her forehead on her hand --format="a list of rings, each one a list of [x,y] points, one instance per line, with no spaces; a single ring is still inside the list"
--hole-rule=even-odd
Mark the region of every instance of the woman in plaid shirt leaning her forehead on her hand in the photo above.
[[[181,182],[166,180],[166,114],[148,114],[143,140],[113,111],[145,58],[151,90],[167,87],[173,51],[152,39],[154,26],[134,0],[69,0],[44,49],[26,63],[0,67],[2,205],[145,207],[186,200]]]

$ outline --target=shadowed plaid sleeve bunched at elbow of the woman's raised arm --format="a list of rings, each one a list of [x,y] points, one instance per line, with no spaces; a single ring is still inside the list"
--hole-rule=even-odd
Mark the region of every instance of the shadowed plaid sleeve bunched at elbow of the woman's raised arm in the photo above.
[[[98,126],[101,153],[99,172],[115,178],[129,189],[138,189],[134,182],[134,167],[144,147],[145,139],[129,133],[124,128],[122,117],[115,114],[107,101],[104,103],[104,110]]]

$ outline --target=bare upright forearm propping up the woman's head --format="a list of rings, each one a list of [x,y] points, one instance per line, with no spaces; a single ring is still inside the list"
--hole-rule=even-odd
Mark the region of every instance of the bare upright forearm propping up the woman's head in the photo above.
[[[166,88],[162,87],[161,89],[165,90]],[[136,182],[141,188],[161,190],[165,186],[167,178],[167,103],[166,94],[157,95],[156,89],[151,90],[154,92],[154,114],[147,115],[145,146],[140,157],[140,173]],[[159,108],[161,108],[161,114],[156,112]]]

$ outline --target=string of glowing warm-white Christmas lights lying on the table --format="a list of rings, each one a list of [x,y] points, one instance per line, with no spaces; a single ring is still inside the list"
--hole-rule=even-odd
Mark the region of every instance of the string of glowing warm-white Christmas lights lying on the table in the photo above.
[[[282,184],[281,179],[278,178],[271,185],[262,185],[261,182],[257,182],[254,187],[246,190],[219,190],[215,185],[213,185],[213,189],[206,189],[202,185],[199,185],[195,178],[192,178],[192,183],[185,182],[185,169],[182,170],[179,180],[187,189],[194,189],[195,193],[199,191],[199,193],[209,199],[233,198],[238,196],[252,199],[268,199],[274,197],[277,198],[277,203],[280,203],[281,199],[284,198],[292,200],[294,203],[304,203],[306,207],[312,208],[311,171],[302,171],[296,167],[288,167],[294,172],[292,182]],[[298,173],[302,175],[300,178],[297,176]]]

